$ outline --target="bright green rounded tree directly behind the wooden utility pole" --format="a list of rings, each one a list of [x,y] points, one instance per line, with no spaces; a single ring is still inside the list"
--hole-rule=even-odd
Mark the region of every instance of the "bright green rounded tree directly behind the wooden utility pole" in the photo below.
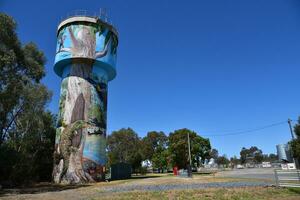
[[[199,166],[206,158],[209,158],[211,150],[209,139],[202,138],[196,132],[189,129],[179,129],[169,135],[169,152],[173,165],[186,168],[188,161],[187,135],[190,137],[192,164]]]

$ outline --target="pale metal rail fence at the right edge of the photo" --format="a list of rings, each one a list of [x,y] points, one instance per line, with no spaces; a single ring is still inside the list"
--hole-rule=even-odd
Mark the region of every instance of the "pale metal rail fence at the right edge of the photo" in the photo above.
[[[300,187],[300,170],[275,169],[277,187]]]

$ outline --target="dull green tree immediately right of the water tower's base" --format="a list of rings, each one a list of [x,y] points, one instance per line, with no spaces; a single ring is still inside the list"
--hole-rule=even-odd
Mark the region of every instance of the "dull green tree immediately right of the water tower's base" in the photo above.
[[[131,164],[134,171],[141,167],[143,160],[142,143],[131,128],[113,131],[107,138],[108,162]]]

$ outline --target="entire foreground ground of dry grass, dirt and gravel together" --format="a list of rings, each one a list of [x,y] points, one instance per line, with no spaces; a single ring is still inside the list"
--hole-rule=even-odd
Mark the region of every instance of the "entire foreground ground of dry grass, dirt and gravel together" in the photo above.
[[[271,182],[218,175],[196,174],[193,178],[179,178],[170,174],[149,174],[87,185],[41,183],[33,187],[2,190],[0,199],[253,199],[253,195],[257,195],[255,199],[300,199],[299,191],[291,192],[271,185]]]

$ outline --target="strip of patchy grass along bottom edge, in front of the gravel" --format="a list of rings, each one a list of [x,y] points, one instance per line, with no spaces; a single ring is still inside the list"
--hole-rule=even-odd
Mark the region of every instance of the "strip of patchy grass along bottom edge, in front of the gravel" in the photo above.
[[[164,192],[121,192],[94,198],[100,199],[203,199],[203,200],[299,200],[300,189],[245,187],[233,189],[170,190]]]

